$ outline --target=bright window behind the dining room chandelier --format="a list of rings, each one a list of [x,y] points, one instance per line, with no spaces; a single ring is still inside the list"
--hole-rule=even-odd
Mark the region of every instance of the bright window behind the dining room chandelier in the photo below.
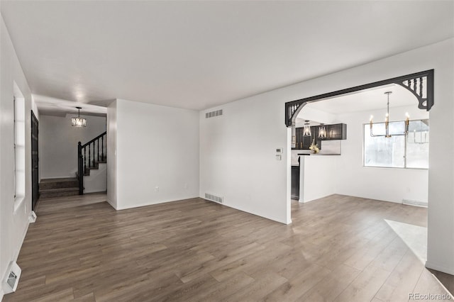
[[[375,135],[384,135],[384,123],[372,126]],[[364,125],[364,166],[428,169],[428,120],[409,123],[408,135],[393,135],[404,132],[404,121],[389,122],[391,138],[370,136],[370,125]]]

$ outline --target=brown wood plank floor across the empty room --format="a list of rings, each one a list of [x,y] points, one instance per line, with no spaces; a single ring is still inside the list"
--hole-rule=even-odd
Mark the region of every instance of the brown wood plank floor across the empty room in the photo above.
[[[426,208],[334,195],[292,225],[194,198],[115,211],[106,196],[43,200],[4,301],[409,301],[446,295],[385,220]],[[412,301],[412,300],[410,300]],[[424,301],[424,300],[420,300]]]

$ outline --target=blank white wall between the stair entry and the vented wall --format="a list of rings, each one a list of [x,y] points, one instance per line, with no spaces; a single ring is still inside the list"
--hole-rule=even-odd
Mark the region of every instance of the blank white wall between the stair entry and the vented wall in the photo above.
[[[114,186],[116,209],[197,197],[199,113],[117,99]]]

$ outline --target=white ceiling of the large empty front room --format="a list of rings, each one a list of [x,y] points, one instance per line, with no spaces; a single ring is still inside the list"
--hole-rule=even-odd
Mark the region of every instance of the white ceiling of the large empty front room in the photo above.
[[[34,94],[197,110],[454,36],[453,1],[1,0],[1,14]]]

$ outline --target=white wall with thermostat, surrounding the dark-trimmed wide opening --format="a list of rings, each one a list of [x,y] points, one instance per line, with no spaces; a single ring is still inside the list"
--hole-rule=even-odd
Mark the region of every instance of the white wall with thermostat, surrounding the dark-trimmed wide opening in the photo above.
[[[226,110],[216,121],[205,121],[202,112],[200,195],[223,194],[228,206],[288,223],[290,135],[284,127],[284,103],[435,69],[426,265],[454,274],[454,160],[446,152],[454,147],[453,53],[454,39],[449,39],[216,107]],[[286,147],[282,162],[275,160],[275,147]]]

